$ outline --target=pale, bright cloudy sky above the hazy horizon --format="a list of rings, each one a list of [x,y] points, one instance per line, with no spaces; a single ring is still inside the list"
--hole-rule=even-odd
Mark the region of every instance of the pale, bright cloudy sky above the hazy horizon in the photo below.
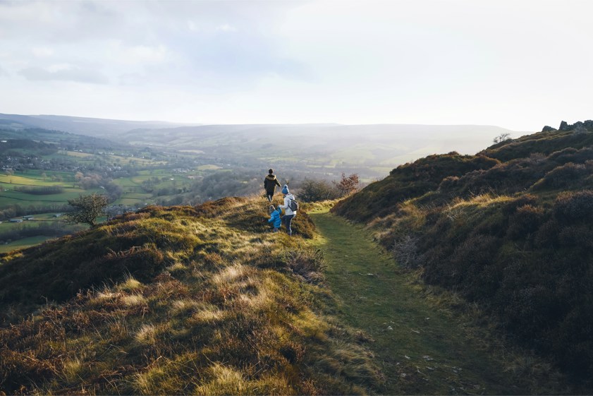
[[[593,119],[593,1],[5,1],[0,113],[197,124]]]

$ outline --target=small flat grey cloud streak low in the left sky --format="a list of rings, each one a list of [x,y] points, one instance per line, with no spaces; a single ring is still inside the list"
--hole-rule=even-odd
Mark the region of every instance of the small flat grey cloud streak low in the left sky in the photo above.
[[[75,83],[106,84],[109,79],[102,73],[78,66],[56,64],[49,68],[24,68],[20,74],[31,81],[72,81]]]

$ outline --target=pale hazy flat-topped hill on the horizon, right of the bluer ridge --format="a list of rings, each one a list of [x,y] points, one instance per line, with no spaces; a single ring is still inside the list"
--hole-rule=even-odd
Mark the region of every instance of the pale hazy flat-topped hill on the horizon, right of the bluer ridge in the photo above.
[[[123,139],[220,152],[233,156],[286,157],[315,162],[320,158],[357,165],[403,163],[423,155],[456,149],[476,152],[495,136],[512,133],[497,126],[439,125],[203,125],[130,131]]]

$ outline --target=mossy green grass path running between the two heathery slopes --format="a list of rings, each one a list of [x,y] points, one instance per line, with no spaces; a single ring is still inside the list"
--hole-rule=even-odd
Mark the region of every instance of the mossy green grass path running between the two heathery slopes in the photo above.
[[[526,393],[464,336],[456,318],[410,284],[364,229],[326,211],[310,215],[322,234],[316,243],[324,251],[338,315],[374,340],[369,345],[386,377],[381,393]]]

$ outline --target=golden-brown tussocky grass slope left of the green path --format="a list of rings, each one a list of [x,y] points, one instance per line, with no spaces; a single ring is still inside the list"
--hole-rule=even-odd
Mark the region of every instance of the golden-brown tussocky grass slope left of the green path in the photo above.
[[[266,208],[153,206],[1,255],[0,389],[377,392],[365,340],[329,315],[312,222],[274,234]]]

